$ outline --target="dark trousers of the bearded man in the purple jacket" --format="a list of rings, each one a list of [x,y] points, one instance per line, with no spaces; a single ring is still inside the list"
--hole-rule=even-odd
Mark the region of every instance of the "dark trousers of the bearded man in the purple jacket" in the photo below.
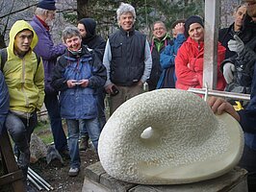
[[[44,105],[47,108],[50,118],[55,148],[59,152],[63,152],[67,150],[67,141],[63,129],[58,95],[45,93]]]

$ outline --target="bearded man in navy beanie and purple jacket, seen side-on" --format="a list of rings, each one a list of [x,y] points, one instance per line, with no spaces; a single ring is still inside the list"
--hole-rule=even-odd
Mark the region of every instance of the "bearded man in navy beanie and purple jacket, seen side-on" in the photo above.
[[[53,134],[56,150],[64,157],[68,156],[67,140],[65,137],[58,95],[51,86],[52,72],[56,65],[57,58],[64,54],[65,45],[55,45],[50,34],[50,28],[55,18],[56,7],[54,0],[40,0],[35,15],[31,21],[31,26],[38,35],[38,45],[34,51],[42,58],[44,67],[44,105],[50,117],[51,130]]]

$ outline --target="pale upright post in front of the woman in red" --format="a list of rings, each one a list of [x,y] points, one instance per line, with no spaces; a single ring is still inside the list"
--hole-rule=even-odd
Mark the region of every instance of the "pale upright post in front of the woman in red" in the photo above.
[[[217,86],[219,0],[205,1],[203,87]]]

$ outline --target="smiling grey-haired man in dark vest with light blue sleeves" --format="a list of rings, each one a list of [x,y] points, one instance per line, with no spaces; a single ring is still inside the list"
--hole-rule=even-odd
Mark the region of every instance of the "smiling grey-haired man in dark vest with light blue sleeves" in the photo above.
[[[111,95],[111,114],[126,100],[142,92],[152,67],[146,36],[134,29],[134,7],[121,3],[116,17],[120,28],[109,37],[103,58],[108,78],[105,89]]]

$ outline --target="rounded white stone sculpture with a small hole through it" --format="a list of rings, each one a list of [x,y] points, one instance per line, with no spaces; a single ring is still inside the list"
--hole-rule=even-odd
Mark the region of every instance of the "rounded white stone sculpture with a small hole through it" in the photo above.
[[[141,184],[209,180],[230,171],[243,153],[243,131],[215,115],[197,95],[160,89],[136,96],[110,117],[98,144],[105,171]]]

